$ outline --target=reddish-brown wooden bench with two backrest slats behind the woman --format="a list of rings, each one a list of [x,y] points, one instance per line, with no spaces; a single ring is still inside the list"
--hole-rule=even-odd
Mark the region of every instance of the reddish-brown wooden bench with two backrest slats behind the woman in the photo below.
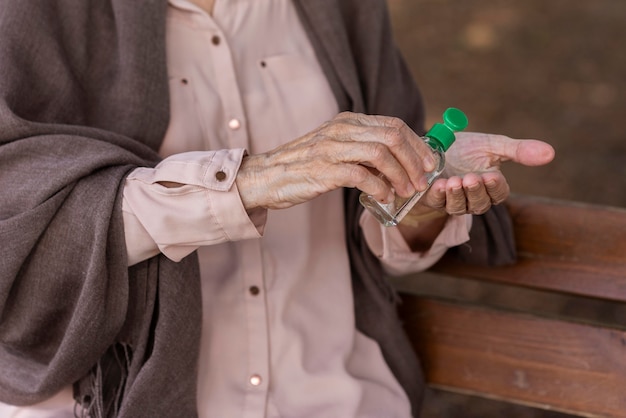
[[[515,265],[444,258],[393,279],[428,384],[626,417],[626,209],[521,195],[506,204]]]

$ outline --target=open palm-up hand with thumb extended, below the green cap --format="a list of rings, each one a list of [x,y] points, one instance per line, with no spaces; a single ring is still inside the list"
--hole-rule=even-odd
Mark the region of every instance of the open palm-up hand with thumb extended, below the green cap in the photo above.
[[[554,148],[535,139],[471,132],[456,136],[446,152],[444,172],[414,210],[424,212],[426,206],[451,215],[485,213],[509,196],[509,185],[500,171],[502,163],[539,166],[554,158]]]

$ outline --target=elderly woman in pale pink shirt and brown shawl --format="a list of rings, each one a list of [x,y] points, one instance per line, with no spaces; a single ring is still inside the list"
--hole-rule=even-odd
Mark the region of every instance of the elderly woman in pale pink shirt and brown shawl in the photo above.
[[[358,193],[433,161],[384,0],[0,10],[3,416],[419,414],[384,274],[511,261],[498,167],[549,145],[460,136],[386,228]]]

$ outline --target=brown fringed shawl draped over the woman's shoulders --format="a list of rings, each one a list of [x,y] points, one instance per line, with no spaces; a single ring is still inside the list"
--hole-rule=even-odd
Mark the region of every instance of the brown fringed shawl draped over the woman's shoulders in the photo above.
[[[295,3],[340,107],[396,115],[421,131],[419,92],[385,1]],[[157,256],[128,269],[121,215],[125,175],[158,162],[168,123],[166,7],[0,0],[4,402],[36,403],[78,382],[77,400],[94,416],[197,415],[197,260]],[[355,196],[346,193],[357,327],[380,342],[417,414],[419,365],[363,246]],[[479,222],[485,242],[475,247],[508,260],[507,218],[497,219]],[[505,231],[503,246],[490,231]]]

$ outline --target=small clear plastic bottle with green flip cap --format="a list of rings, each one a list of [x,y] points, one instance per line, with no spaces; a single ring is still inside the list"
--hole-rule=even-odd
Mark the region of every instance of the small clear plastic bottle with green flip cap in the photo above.
[[[451,107],[443,112],[443,123],[434,124],[424,137],[422,137],[432,148],[436,165],[433,171],[426,173],[428,187],[439,177],[445,168],[445,152],[456,139],[454,133],[465,129],[467,122],[467,116],[465,116],[461,110]],[[380,203],[374,199],[373,196],[361,193],[359,201],[366,209],[372,212],[380,223],[385,226],[396,226],[402,221],[402,218],[409,213],[422,195],[426,193],[426,190],[416,192],[409,198],[396,195],[394,201],[390,203]]]

